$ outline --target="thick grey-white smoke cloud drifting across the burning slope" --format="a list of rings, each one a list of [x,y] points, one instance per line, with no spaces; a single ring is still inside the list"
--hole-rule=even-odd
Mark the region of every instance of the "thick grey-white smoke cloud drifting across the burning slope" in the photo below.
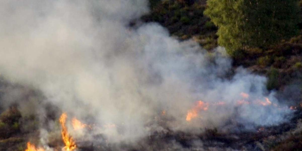
[[[156,23],[129,27],[147,6],[146,0],[2,0],[0,73],[41,91],[64,112],[92,117],[101,125],[93,133],[112,142],[160,129],[153,119],[163,113],[170,129],[184,131],[223,129],[231,119],[245,129],[285,121],[290,110],[266,90],[265,77],[238,68],[228,78],[232,62],[223,48],[208,53]],[[238,105],[265,97],[271,104]],[[206,111],[194,107],[199,100]],[[189,122],[188,111],[196,117]]]

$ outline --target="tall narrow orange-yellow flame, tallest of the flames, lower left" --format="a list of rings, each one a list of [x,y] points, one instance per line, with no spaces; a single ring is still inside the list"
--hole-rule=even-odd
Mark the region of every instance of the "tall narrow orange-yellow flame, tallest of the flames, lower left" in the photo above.
[[[69,133],[68,133],[67,128],[65,126],[66,118],[67,118],[66,113],[63,113],[61,115],[60,119],[59,119],[60,124],[62,126],[62,131],[61,131],[62,139],[63,139],[63,142],[65,144],[65,147],[63,149],[66,150],[66,151],[72,151],[72,150],[76,149],[76,142],[73,140],[72,137],[69,136]]]

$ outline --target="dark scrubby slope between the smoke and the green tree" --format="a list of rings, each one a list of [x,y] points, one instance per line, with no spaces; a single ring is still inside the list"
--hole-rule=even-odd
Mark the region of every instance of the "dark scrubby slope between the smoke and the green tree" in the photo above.
[[[207,50],[217,47],[217,27],[204,16],[206,0],[149,0],[151,13],[143,21],[158,22],[180,40],[194,38]]]

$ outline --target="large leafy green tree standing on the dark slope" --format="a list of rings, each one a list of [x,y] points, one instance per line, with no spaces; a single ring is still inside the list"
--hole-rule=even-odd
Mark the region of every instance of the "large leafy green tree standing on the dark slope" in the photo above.
[[[218,44],[237,50],[269,47],[298,33],[297,0],[208,0],[204,14],[218,27]]]

